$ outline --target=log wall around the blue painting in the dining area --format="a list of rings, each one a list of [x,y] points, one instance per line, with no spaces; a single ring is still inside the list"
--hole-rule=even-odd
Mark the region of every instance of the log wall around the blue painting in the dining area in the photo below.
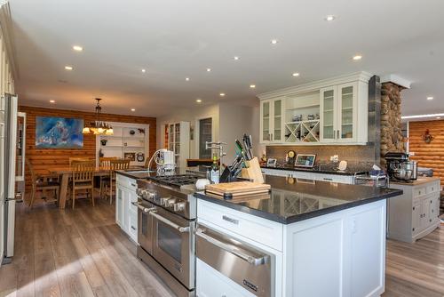
[[[82,118],[84,123],[94,121],[93,112],[78,110],[55,109],[55,108],[35,108],[20,106],[19,110],[27,114],[26,127],[26,157],[29,159],[36,171],[51,169],[51,167],[64,166],[69,164],[69,157],[96,157],[96,137],[92,134],[84,135],[83,148],[71,149],[36,149],[36,116],[59,116],[69,118]],[[156,147],[156,119],[145,116],[121,116],[112,114],[101,114],[100,119],[107,122],[122,122],[149,124],[149,156],[154,154]],[[26,173],[27,188],[30,185],[30,176]]]

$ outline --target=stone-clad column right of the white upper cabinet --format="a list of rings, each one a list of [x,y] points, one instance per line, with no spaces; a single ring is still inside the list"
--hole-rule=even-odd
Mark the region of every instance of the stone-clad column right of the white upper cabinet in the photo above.
[[[400,92],[404,87],[384,83],[381,88],[381,164],[389,151],[404,152],[404,137],[400,122]]]

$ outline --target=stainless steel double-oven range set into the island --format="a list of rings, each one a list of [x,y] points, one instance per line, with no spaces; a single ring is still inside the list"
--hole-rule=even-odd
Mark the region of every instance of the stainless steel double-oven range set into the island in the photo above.
[[[196,199],[192,174],[138,180],[138,257],[178,296],[194,296]]]

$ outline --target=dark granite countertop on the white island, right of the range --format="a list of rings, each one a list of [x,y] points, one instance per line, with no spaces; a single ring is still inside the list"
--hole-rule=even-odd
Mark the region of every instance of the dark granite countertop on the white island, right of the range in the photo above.
[[[196,192],[194,196],[242,213],[290,224],[402,194],[398,189],[296,180],[271,175],[266,176],[266,183],[272,186],[269,195],[244,198],[237,202],[206,195],[204,192]]]

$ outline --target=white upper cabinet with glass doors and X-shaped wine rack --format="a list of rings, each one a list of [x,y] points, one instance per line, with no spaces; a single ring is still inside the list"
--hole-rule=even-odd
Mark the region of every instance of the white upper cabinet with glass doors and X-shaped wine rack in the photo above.
[[[260,140],[269,144],[366,144],[365,72],[259,95]]]

